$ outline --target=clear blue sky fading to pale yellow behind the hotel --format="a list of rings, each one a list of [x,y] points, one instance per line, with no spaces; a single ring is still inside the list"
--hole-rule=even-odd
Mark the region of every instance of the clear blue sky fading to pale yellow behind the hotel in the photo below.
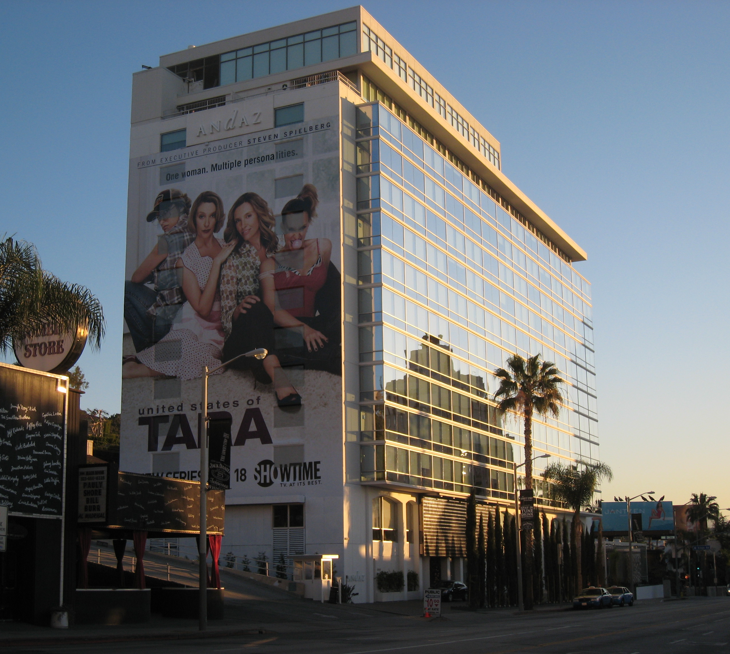
[[[131,74],[347,1],[0,4],[0,235],[89,286],[108,335],[86,408],[118,411]],[[505,174],[588,252],[604,498],[730,506],[730,4],[367,1],[502,143]]]

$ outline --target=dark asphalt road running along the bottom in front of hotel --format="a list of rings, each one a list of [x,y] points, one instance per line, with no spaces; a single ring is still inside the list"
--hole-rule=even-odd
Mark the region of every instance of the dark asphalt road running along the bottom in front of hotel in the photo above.
[[[210,639],[7,647],[5,652],[174,654],[684,654],[730,652],[730,598],[642,601],[583,611],[466,612],[426,620],[415,603],[337,606],[231,593],[225,628],[263,634]],[[410,614],[410,615],[409,615]],[[184,621],[184,631],[194,629]],[[183,621],[180,622],[183,628]],[[213,626],[220,628],[220,626]]]

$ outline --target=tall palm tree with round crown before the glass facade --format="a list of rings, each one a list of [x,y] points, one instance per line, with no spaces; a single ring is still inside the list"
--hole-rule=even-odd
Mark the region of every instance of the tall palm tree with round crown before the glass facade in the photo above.
[[[525,436],[525,487],[532,489],[532,416],[558,417],[564,398],[560,384],[564,384],[560,371],[551,361],[540,361],[540,355],[524,360],[519,354],[507,359],[507,368],[497,368],[494,376],[501,381],[494,393],[499,410],[514,411],[523,419]],[[515,479],[517,493],[517,479]],[[532,531],[525,533],[525,608],[532,608]]]

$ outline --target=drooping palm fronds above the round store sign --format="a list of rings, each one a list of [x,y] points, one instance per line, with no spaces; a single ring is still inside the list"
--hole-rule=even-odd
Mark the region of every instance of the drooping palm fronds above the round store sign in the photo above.
[[[43,270],[32,243],[0,240],[0,351],[47,327],[58,332],[85,326],[93,347],[104,338],[104,311],[85,286]]]

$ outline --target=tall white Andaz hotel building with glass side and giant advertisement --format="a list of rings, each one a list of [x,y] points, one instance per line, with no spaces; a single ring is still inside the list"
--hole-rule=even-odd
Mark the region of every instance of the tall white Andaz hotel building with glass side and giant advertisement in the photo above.
[[[201,365],[269,350],[210,377],[222,555],[337,554],[356,601],[379,571],[399,598],[461,578],[469,493],[514,507],[522,427],[491,398],[515,352],[568,382],[535,454],[598,459],[585,252],[362,7],[162,56],[133,76],[130,149],[120,467],[198,479]]]

